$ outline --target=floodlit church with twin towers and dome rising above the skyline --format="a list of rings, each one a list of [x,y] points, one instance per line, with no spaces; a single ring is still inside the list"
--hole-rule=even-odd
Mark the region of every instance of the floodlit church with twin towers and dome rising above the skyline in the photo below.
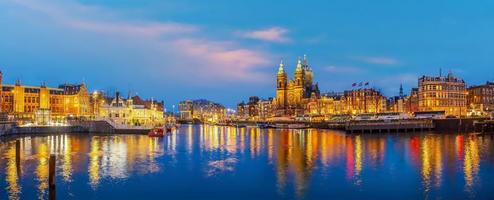
[[[276,98],[273,100],[276,116],[300,116],[304,114],[311,97],[320,96],[318,84],[313,84],[313,72],[307,56],[297,60],[294,79],[288,80],[283,60],[277,73]]]

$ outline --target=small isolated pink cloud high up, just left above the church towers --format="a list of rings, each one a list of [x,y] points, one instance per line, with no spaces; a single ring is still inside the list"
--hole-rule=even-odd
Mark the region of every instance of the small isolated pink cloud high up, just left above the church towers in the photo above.
[[[263,40],[268,42],[287,43],[291,40],[286,36],[288,29],[282,27],[271,27],[262,30],[238,33],[241,37],[248,39]]]

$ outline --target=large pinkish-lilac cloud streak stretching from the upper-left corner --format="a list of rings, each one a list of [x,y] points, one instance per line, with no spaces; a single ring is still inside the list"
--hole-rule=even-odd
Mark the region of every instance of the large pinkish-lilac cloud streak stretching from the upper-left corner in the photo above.
[[[268,80],[262,69],[270,60],[269,53],[235,41],[211,38],[198,25],[128,19],[124,13],[75,1],[6,2],[12,6],[8,9],[23,23],[30,20],[38,25],[46,24],[50,33],[59,36],[54,42],[63,43],[73,33],[82,35],[81,38],[90,35],[92,38],[85,42],[96,46],[95,52],[128,51],[126,57],[108,59],[107,62],[113,62],[110,64],[130,66],[137,63],[138,72],[152,71],[150,76],[159,80],[170,72],[173,76],[166,74],[169,79],[186,81],[186,84],[262,83]]]

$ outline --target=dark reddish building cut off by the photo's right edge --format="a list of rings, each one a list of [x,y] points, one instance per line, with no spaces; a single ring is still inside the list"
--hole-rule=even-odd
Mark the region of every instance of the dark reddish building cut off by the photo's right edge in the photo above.
[[[470,115],[487,115],[494,110],[494,82],[468,88],[467,105]]]

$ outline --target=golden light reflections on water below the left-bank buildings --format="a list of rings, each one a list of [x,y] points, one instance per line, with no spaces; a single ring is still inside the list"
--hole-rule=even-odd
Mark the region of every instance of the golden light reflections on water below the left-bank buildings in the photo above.
[[[147,136],[90,136],[90,139],[81,139],[77,135],[59,135],[45,137],[31,137],[21,139],[21,165],[28,163],[34,166],[33,175],[37,188],[38,198],[48,197],[48,160],[50,154],[57,156],[57,176],[62,183],[73,180],[74,170],[84,167],[87,156],[88,184],[97,189],[104,178],[124,179],[132,173],[153,173],[160,170],[155,161],[163,155],[163,147],[157,138]],[[86,149],[88,146],[89,149]],[[9,199],[18,199],[21,192],[19,176],[16,166],[15,141],[0,143],[2,158],[0,164],[5,163],[5,182]],[[87,153],[85,153],[87,152]],[[145,165],[137,163],[145,163]],[[24,177],[25,178],[25,177]]]

